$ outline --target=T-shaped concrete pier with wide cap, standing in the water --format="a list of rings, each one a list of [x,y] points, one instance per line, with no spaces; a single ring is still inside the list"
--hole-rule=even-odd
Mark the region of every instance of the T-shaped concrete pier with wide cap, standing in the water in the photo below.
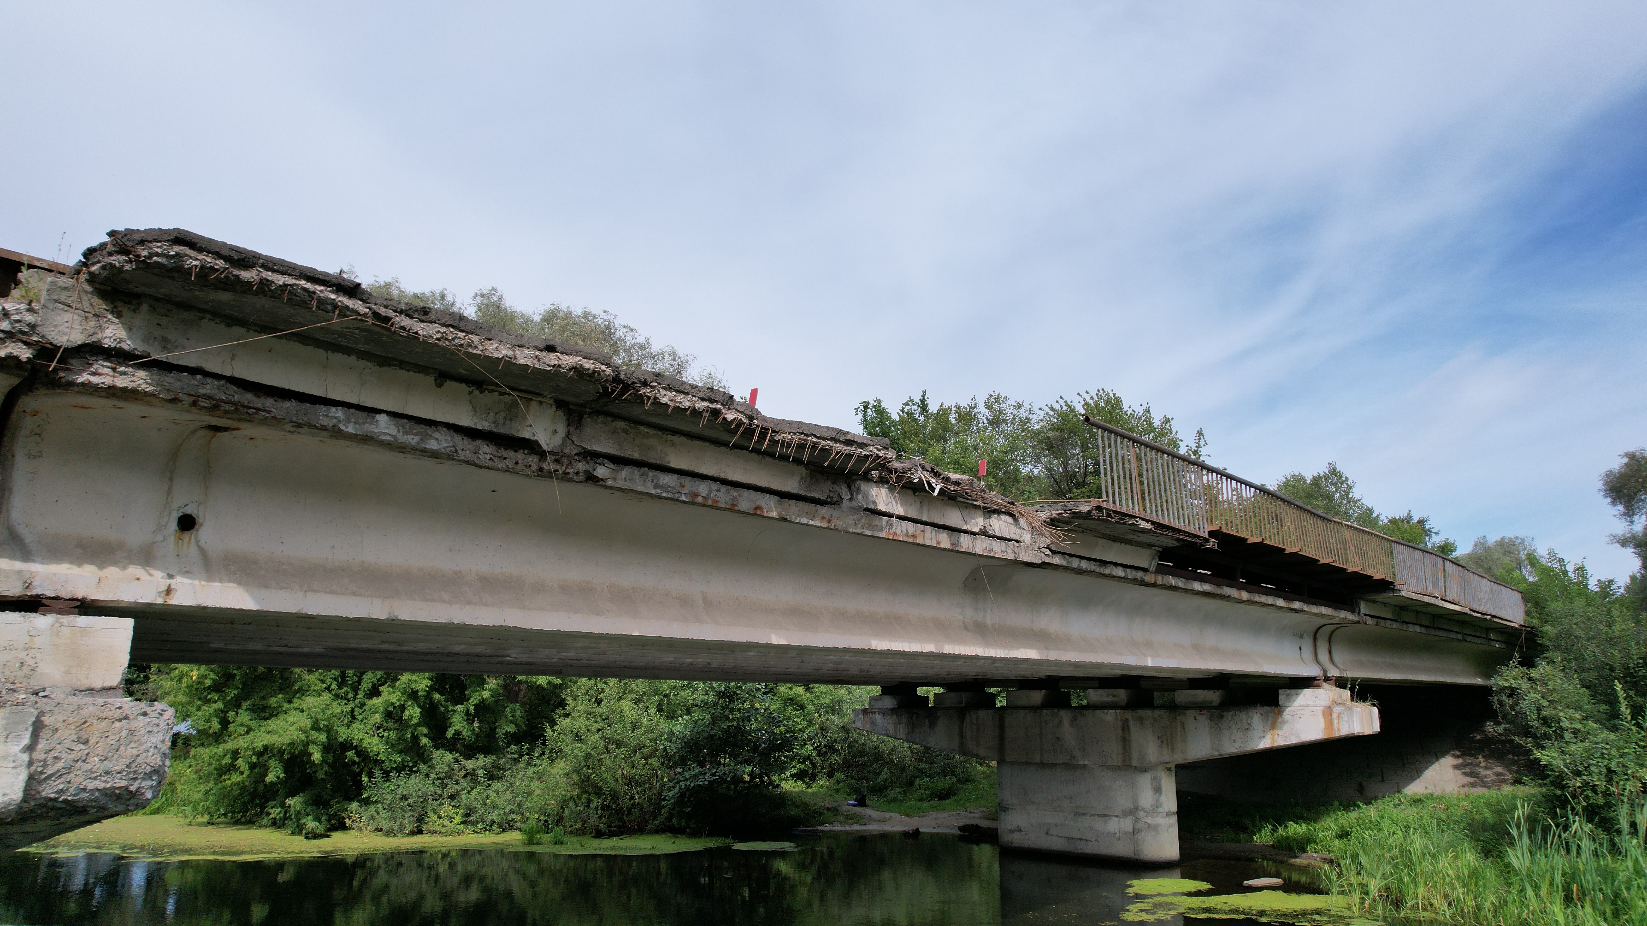
[[[1090,702],[1117,699],[1094,689]],[[996,763],[1000,840],[1011,849],[1174,863],[1176,766],[1379,732],[1379,709],[1339,687],[1281,689],[1276,704],[1171,692],[1174,707],[1013,707],[1062,692],[1010,692],[1008,707],[921,707],[881,695],[853,715],[860,730]],[[1019,697],[1011,697],[1019,695]],[[954,699],[945,699],[954,700]]]

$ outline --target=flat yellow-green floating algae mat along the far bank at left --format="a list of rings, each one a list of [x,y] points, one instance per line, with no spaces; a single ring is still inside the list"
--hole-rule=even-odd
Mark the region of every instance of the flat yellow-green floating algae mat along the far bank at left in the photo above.
[[[471,835],[382,835],[341,830],[326,839],[303,839],[282,830],[236,824],[191,824],[163,814],[114,817],[86,829],[38,842],[25,852],[79,855],[115,852],[133,858],[184,860],[222,858],[318,858],[326,855],[367,855],[376,852],[427,852],[435,849],[506,849],[511,852],[552,852],[565,855],[662,855],[728,845],[731,839],[672,834],[618,835],[598,839],[567,835],[527,844],[519,832]]]

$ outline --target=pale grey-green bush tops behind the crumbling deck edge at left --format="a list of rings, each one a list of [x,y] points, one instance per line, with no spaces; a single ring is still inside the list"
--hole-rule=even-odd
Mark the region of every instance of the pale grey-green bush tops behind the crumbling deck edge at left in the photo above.
[[[675,379],[708,386],[710,389],[726,389],[726,381],[715,367],[698,367],[698,358],[680,351],[674,344],[654,346],[652,339],[641,334],[632,325],[618,321],[611,311],[595,311],[590,308],[568,308],[550,303],[535,315],[514,308],[497,287],[474,290],[469,302],[461,302],[451,290],[408,290],[399,277],[374,280],[366,287],[374,295],[397,298],[413,305],[427,305],[473,316],[476,321],[501,328],[514,334],[545,338],[565,344],[576,344],[590,351],[611,356],[621,366],[634,366],[654,372],[664,372]]]

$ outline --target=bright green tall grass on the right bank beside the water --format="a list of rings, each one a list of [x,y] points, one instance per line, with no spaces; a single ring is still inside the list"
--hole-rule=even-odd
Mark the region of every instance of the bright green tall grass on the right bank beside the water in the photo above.
[[[1647,926],[1647,802],[1609,825],[1527,791],[1402,796],[1265,827],[1337,858],[1326,880],[1382,918],[1467,926]]]

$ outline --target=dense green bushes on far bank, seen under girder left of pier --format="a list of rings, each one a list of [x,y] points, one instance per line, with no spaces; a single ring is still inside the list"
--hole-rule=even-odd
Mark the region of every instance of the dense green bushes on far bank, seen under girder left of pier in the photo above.
[[[130,684],[196,730],[152,812],[311,837],[751,832],[819,822],[796,783],[944,799],[978,781],[853,730],[873,689],[199,666]]]

